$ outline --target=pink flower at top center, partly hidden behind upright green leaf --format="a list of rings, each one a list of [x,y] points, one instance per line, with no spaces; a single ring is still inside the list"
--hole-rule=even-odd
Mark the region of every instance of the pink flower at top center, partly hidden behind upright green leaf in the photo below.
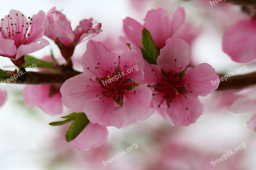
[[[171,19],[167,16],[167,11],[158,8],[157,10],[148,11],[143,26],[132,18],[125,18],[123,30],[132,44],[142,47],[141,32],[143,28],[146,28],[150,32],[156,47],[161,49],[165,46],[165,41],[179,30],[184,21],[184,8],[178,7]]]

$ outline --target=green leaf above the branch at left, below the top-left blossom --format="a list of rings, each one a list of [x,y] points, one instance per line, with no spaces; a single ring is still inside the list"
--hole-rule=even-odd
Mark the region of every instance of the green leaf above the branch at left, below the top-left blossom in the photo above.
[[[38,58],[35,58],[31,55],[25,55],[26,63],[23,65],[23,67],[31,67],[33,64],[36,64],[37,68],[43,68],[43,69],[54,69],[53,66],[55,63],[41,60]]]

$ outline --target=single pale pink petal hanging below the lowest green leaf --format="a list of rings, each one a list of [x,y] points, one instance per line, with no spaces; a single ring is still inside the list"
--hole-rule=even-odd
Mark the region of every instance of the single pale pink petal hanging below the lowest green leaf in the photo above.
[[[92,148],[99,147],[104,144],[107,136],[108,131],[106,127],[100,126],[97,123],[89,123],[76,137],[73,144],[78,149],[90,151]]]

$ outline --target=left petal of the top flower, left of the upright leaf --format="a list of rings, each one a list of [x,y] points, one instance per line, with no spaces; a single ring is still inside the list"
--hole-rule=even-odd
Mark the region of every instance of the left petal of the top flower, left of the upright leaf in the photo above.
[[[127,17],[123,20],[123,30],[126,37],[128,37],[133,44],[142,47],[141,38],[143,26],[139,22]]]

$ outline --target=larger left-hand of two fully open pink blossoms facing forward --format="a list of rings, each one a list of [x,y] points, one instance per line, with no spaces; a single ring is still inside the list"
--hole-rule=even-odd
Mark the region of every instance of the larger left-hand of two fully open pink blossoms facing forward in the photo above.
[[[131,47],[119,57],[102,42],[89,40],[81,60],[84,73],[61,86],[63,104],[75,112],[84,112],[90,122],[101,126],[120,128],[124,116],[147,120],[154,112],[149,107],[152,94],[146,84],[137,84],[144,79],[144,61],[140,49]]]

